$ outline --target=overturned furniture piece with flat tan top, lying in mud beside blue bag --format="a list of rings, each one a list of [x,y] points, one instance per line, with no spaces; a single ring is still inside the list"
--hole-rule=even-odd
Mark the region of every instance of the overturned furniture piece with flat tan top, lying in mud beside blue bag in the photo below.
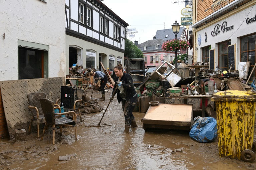
[[[158,104],[149,106],[141,120],[148,128],[190,130],[193,123],[192,104]]]

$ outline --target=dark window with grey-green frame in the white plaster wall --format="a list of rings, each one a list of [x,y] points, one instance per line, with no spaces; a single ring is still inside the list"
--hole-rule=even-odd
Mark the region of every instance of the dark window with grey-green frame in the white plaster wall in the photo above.
[[[18,46],[18,79],[48,78],[49,46],[22,40]]]

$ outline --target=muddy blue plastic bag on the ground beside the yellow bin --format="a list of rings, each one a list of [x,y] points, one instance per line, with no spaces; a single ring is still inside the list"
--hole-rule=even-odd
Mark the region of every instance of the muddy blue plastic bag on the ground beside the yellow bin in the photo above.
[[[217,121],[213,117],[195,117],[189,136],[197,142],[212,142],[217,137]]]

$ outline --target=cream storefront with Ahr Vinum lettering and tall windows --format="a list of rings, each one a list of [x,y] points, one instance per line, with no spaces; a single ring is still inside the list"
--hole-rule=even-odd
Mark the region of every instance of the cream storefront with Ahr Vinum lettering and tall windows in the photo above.
[[[216,17],[218,15],[221,16]],[[239,62],[250,62],[251,73],[256,53],[255,1],[239,7],[230,3],[226,8],[195,23],[192,28],[195,28],[196,61],[209,62],[210,69],[218,66],[222,71],[228,71],[230,67],[237,70]],[[251,79],[254,76],[255,73]]]

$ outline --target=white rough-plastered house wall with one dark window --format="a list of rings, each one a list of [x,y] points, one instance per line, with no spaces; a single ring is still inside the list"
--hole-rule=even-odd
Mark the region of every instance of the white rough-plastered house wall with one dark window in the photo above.
[[[65,76],[65,2],[0,1],[0,79]]]

